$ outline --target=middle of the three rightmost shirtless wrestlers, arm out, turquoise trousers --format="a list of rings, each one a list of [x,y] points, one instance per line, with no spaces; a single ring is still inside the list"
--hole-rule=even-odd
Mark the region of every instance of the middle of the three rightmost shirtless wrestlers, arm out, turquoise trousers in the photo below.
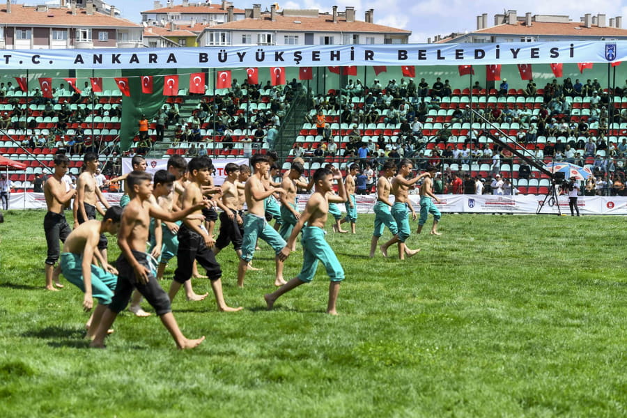
[[[398,167],[398,174],[392,179],[394,206],[392,206],[391,213],[398,227],[398,258],[401,260],[405,259],[405,254],[411,257],[420,251],[420,249],[409,249],[405,245],[405,241],[407,241],[412,232],[409,224],[409,210],[412,212],[412,219],[416,220],[417,218],[414,205],[409,199],[409,188],[415,185],[421,178],[428,176],[428,173],[422,173],[420,176],[407,180],[413,168],[413,164],[410,160],[406,158],[401,160]]]

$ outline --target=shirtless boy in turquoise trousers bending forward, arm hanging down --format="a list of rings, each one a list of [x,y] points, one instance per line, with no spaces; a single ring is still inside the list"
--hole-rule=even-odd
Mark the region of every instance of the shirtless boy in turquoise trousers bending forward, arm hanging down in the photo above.
[[[102,258],[98,251],[98,241],[102,233],[107,232],[111,235],[118,233],[121,217],[122,208],[111,206],[104,213],[102,222],[98,219],[91,219],[82,223],[70,233],[63,245],[61,271],[65,279],[85,293],[83,309],[87,312],[91,311],[93,298],[98,300],[98,306],[93,310],[86,324],[89,339],[93,339],[98,330],[102,314],[111,303],[118,281],[118,270]],[[94,258],[98,260],[101,267],[95,265]]]

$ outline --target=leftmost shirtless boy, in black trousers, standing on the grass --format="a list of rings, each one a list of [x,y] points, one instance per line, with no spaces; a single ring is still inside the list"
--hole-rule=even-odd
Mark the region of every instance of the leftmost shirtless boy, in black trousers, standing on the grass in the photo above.
[[[56,154],[53,158],[54,174],[50,176],[44,184],[44,196],[46,198],[46,206],[48,212],[44,217],[44,231],[46,234],[46,242],[48,246],[48,254],[46,258],[46,288],[49,291],[56,291],[52,285],[52,281],[56,282],[57,287],[63,287],[59,283],[59,273],[61,268],[54,268],[54,264],[59,260],[59,240],[65,242],[72,229],[65,220],[63,210],[70,203],[72,197],[76,194],[76,190],[70,188],[65,189],[63,176],[68,171],[68,163],[70,159],[65,154]]]

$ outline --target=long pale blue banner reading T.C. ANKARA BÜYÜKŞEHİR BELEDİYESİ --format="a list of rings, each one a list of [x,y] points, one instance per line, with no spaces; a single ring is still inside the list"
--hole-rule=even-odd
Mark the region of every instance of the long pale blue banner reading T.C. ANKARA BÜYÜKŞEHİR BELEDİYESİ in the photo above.
[[[7,50],[0,60],[3,70],[607,63],[627,60],[627,41],[25,49]]]

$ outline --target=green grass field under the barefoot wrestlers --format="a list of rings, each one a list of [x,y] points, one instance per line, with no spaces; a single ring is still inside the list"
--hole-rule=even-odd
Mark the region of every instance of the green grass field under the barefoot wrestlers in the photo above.
[[[226,302],[245,309],[220,314],[211,296],[180,293],[181,329],[207,336],[181,352],[154,315],[130,314],[107,350],[89,350],[80,291],[67,281],[43,290],[43,212],[5,215],[1,417],[627,414],[624,217],[445,214],[444,235],[412,235],[422,251],[401,263],[366,257],[373,216],[360,215],[357,235],[327,235],[347,277],[338,317],[324,314],[323,268],[266,311],[269,247],[244,289],[225,250]],[[286,278],[301,255],[288,259]],[[194,287],[210,291],[206,280]]]

